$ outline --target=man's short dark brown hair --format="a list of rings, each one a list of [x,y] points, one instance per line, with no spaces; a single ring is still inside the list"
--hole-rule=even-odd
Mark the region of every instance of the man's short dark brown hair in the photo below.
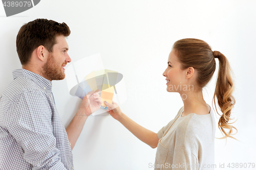
[[[23,25],[18,32],[16,48],[20,63],[28,64],[35,48],[44,45],[52,53],[53,45],[56,44],[56,36],[70,35],[69,26],[48,19],[35,19]]]

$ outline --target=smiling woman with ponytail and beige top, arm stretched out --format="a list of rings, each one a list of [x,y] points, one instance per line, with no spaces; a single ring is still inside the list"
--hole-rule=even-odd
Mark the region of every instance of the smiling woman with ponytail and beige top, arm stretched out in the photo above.
[[[199,39],[181,39],[174,43],[170,52],[166,77],[166,90],[178,92],[184,106],[166,126],[154,133],[136,124],[121,112],[118,105],[106,103],[108,112],[141,141],[157,147],[155,169],[214,169],[215,119],[214,111],[203,99],[202,88],[210,81],[219,59],[219,73],[214,93],[222,111],[218,126],[222,138],[233,138],[229,125],[235,100],[231,95],[233,83],[226,57]],[[216,108],[217,110],[217,108]],[[218,113],[219,114],[219,113]],[[225,129],[229,132],[226,133]],[[237,129],[236,129],[237,130]]]

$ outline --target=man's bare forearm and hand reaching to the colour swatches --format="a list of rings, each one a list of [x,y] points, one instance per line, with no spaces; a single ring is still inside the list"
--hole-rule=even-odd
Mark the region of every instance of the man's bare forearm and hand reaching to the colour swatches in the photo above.
[[[76,144],[80,133],[82,132],[82,128],[84,126],[84,123],[86,123],[87,117],[96,110],[98,110],[102,104],[99,92],[100,90],[97,90],[95,92],[91,91],[87,93],[86,96],[84,96],[78,112],[75,114],[69,126],[66,128],[72,150]]]

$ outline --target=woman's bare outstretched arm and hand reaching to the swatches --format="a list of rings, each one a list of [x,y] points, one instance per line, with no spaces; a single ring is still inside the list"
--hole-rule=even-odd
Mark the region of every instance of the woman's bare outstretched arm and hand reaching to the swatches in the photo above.
[[[110,113],[110,115],[116,120],[118,120],[126,129],[132,132],[132,134],[134,134],[138,139],[150,145],[151,148],[157,148],[159,140],[157,133],[152,132],[146,128],[143,128],[142,126],[134,122],[131,118],[129,118],[121,112],[117,103],[113,102],[112,104],[110,104],[105,102],[105,105],[108,106],[107,111]]]

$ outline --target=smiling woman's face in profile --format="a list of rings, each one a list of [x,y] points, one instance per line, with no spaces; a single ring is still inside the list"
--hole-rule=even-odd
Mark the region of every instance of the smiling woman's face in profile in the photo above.
[[[167,68],[163,72],[163,76],[166,77],[166,90],[168,92],[180,92],[182,91],[182,85],[184,83],[185,74],[181,70],[181,64],[175,54],[175,50],[172,50],[169,54],[167,61]]]

